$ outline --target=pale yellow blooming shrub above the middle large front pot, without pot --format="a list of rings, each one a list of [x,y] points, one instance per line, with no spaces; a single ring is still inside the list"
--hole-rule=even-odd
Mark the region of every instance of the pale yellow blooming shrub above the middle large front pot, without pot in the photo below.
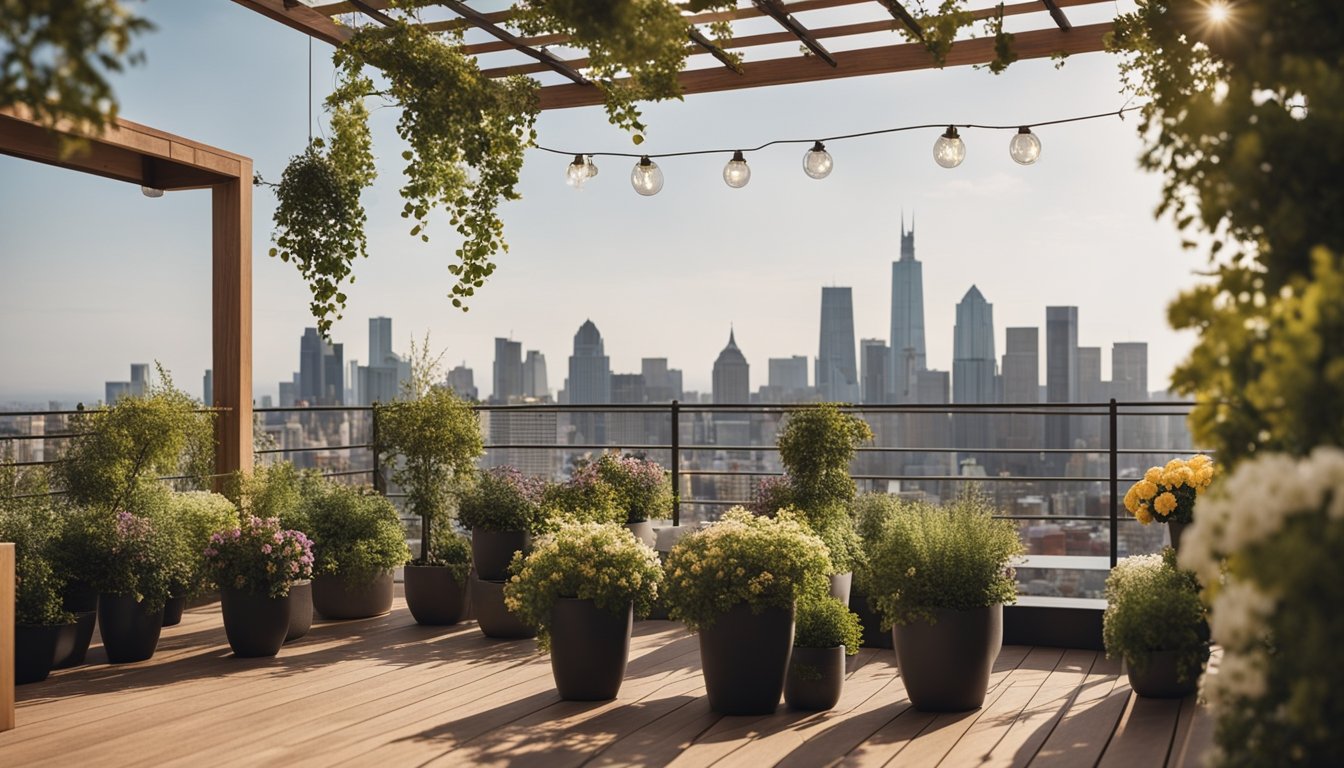
[[[827,546],[792,512],[771,519],[734,507],[677,542],[664,570],[668,615],[700,629],[738,603],[759,613],[823,594],[832,568]]]

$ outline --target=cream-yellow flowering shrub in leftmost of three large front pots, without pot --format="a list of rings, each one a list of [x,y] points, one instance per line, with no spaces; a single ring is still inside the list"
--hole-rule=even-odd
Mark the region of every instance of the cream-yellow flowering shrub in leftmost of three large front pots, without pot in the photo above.
[[[560,597],[591,600],[621,612],[634,604],[648,616],[659,596],[663,569],[659,555],[618,525],[566,523],[513,554],[513,576],[504,585],[504,604],[536,628],[536,644],[551,647],[551,608]]]

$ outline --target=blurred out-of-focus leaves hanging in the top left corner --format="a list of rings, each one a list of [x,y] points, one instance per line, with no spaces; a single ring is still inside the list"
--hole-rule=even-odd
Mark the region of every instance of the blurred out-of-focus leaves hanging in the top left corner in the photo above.
[[[95,133],[117,117],[105,75],[140,63],[132,40],[153,28],[117,0],[0,0],[0,109]]]

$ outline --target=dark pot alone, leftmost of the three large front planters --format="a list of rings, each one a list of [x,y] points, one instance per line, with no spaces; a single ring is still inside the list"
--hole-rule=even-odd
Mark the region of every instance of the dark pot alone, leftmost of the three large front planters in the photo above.
[[[630,658],[634,604],[620,613],[591,600],[560,597],[551,608],[551,674],[566,701],[610,701]]]

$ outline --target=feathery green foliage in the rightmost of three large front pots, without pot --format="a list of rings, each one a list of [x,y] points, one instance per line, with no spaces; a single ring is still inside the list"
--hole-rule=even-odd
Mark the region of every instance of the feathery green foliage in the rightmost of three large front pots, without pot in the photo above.
[[[883,627],[934,620],[934,611],[966,611],[1016,600],[1009,564],[1021,554],[1012,521],[996,521],[984,496],[943,507],[910,504],[886,519],[871,550],[874,605]]]

